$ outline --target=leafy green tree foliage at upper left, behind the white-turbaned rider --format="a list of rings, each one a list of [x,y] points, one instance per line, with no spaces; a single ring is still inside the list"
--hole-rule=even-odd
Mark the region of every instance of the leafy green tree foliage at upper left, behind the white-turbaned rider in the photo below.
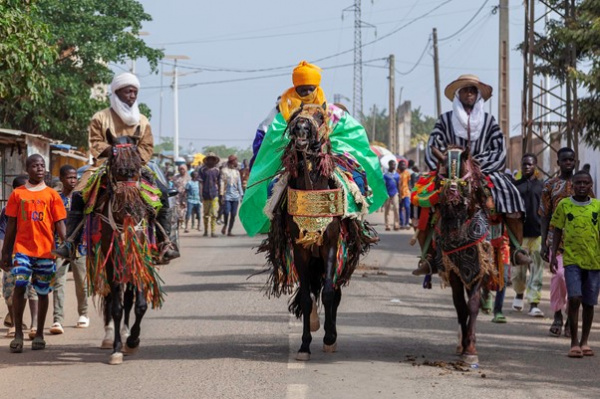
[[[91,116],[108,105],[103,96],[91,96],[92,88],[112,80],[108,63],[145,58],[156,70],[161,51],[149,48],[136,35],[150,15],[134,0],[37,0],[33,8],[23,1],[10,3],[41,27],[28,30],[27,35],[43,34],[46,46],[55,51],[53,58],[31,67],[44,81],[23,86],[41,95],[1,103],[0,120],[7,127],[85,146]],[[4,13],[0,15],[4,20]],[[9,37],[24,48],[26,38]],[[0,80],[6,83],[3,77]]]

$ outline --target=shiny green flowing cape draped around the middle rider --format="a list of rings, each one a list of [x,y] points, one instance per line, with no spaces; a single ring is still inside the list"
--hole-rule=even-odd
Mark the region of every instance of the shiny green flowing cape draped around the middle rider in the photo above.
[[[281,171],[281,156],[289,143],[285,132],[287,123],[277,114],[252,166],[248,188],[240,207],[240,220],[246,233],[254,236],[269,231],[270,221],[264,214],[267,204],[268,186],[273,177]],[[348,113],[335,124],[329,135],[334,153],[351,154],[367,174],[367,183],[373,192],[369,213],[379,209],[388,198],[387,190],[377,156],[371,151],[365,129]],[[349,204],[354,201],[348,201]]]

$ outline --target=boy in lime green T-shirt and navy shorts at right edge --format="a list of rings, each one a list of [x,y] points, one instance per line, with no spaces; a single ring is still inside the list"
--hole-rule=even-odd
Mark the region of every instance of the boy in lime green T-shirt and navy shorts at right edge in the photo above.
[[[556,273],[557,252],[563,240],[563,264],[567,283],[568,318],[571,330],[569,357],[593,356],[588,337],[594,306],[600,292],[600,201],[590,198],[592,177],[579,171],[573,175],[573,195],[561,200],[550,224],[554,227],[550,271]],[[582,305],[581,340],[577,339],[579,306]]]

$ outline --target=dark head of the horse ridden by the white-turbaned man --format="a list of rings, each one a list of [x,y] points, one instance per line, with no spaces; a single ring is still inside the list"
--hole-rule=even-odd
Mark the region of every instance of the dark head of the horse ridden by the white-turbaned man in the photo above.
[[[139,131],[139,126],[137,129]],[[108,159],[111,177],[116,181],[138,181],[142,167],[142,158],[137,149],[139,134],[114,137],[107,129],[106,137],[112,148]]]

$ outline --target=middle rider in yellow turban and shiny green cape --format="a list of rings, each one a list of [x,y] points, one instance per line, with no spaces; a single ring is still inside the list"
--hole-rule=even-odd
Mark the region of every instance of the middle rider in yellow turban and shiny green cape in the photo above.
[[[281,170],[281,155],[289,142],[285,132],[287,123],[302,105],[316,104],[327,108],[333,152],[350,154],[366,172],[373,194],[367,195],[367,201],[372,201],[369,209],[374,211],[380,208],[388,197],[379,162],[369,148],[364,128],[345,110],[327,103],[320,86],[321,69],[302,61],[292,72],[292,83],[293,87],[281,95],[275,117],[260,143],[240,208],[240,220],[251,236],[268,231],[269,221],[263,208],[267,202],[269,183]],[[360,186],[360,179],[356,178],[355,181]]]

